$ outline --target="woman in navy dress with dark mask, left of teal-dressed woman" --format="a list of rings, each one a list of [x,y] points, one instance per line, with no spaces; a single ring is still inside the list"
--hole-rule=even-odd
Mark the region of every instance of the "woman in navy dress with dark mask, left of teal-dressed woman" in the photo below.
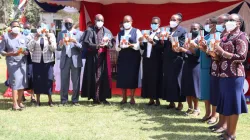
[[[203,27],[199,23],[191,25],[190,33],[192,33],[192,40],[187,42],[179,51],[184,52],[184,65],[182,72],[181,93],[186,96],[188,103],[188,110],[186,115],[198,116],[200,109],[198,101],[200,98],[200,50],[198,48],[198,35]],[[197,43],[197,44],[196,44]]]

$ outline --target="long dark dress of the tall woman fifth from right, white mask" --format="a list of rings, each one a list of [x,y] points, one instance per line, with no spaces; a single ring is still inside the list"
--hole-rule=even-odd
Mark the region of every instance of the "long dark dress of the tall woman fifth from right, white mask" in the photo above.
[[[178,37],[180,46],[183,46],[185,34],[186,30],[178,26],[172,36]],[[169,39],[164,41],[162,99],[168,102],[185,102],[186,100],[186,97],[181,94],[183,57],[184,53],[176,53],[172,50],[172,43]]]

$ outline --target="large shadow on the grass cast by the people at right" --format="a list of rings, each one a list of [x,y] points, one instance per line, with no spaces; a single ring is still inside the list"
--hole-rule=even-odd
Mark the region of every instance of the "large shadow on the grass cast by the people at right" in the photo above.
[[[160,124],[160,127],[152,128],[140,128],[142,131],[159,131],[166,132],[162,135],[150,136],[151,139],[155,140],[214,140],[217,137],[210,133],[207,127],[200,126],[198,118],[185,117],[184,111],[177,111],[174,109],[167,110],[166,106],[147,106],[145,103],[137,103],[136,105],[124,104],[120,105],[114,102],[112,105],[117,106],[115,111],[127,112],[127,116],[138,116],[140,114],[146,114],[147,117],[141,117],[136,121],[142,122],[143,124]],[[130,113],[131,110],[135,110],[136,113]],[[199,133],[199,134],[197,134]],[[209,134],[210,133],[210,134]],[[207,134],[207,135],[206,135]]]

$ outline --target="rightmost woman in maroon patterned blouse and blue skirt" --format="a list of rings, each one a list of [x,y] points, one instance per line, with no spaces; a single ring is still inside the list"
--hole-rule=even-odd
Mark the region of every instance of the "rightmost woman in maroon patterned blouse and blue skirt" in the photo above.
[[[245,69],[242,64],[247,57],[248,41],[244,33],[244,20],[240,15],[231,14],[225,25],[229,35],[215,45],[215,52],[220,56],[220,97],[217,112],[226,116],[227,120],[223,139],[235,140],[239,115],[248,112],[243,93]]]

